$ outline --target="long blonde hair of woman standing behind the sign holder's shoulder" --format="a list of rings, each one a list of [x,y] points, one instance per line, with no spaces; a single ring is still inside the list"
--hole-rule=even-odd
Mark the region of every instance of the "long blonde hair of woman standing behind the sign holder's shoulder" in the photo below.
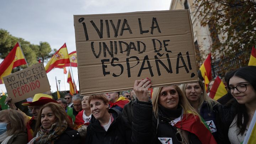
[[[205,90],[205,88],[204,88],[203,82],[198,81],[198,84],[200,85],[201,89],[203,90],[203,93],[202,93],[201,96],[199,97],[199,106],[198,106],[198,107],[199,107],[199,112],[200,112],[200,110],[201,110],[201,107],[202,107],[204,101],[207,103],[207,106],[208,106],[208,108],[210,108],[210,111],[212,111],[212,110],[213,110],[213,107],[214,107],[215,105],[219,105],[219,102],[213,100],[212,98],[210,98],[210,97],[207,95],[206,90]],[[185,94],[185,96],[186,96],[186,92],[185,92],[185,91],[186,91],[186,86],[187,86],[187,84],[182,84],[182,85],[181,85],[181,90],[183,91],[183,93]],[[186,98],[187,98],[187,97],[186,97]]]

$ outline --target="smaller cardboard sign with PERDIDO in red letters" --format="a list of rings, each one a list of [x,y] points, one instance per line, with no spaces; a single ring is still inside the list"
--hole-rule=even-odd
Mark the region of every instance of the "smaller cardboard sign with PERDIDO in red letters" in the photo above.
[[[3,79],[8,96],[12,98],[13,103],[50,90],[43,63],[17,71]]]

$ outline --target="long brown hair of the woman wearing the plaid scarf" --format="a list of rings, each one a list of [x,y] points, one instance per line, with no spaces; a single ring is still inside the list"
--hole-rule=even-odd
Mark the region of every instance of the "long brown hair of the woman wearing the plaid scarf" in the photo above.
[[[36,122],[36,130],[34,132],[34,137],[36,136],[37,132],[39,131],[42,123],[41,123],[41,114],[44,108],[49,107],[55,117],[56,117],[56,121],[58,122],[59,126],[61,125],[61,123],[63,121],[66,121],[68,123],[68,127],[73,128],[73,124],[70,122],[70,119],[68,118],[68,114],[65,112],[64,108],[62,106],[59,105],[59,103],[54,103],[54,102],[49,102],[45,105],[43,105],[40,109],[40,113],[38,114],[38,118],[37,118],[37,122]]]

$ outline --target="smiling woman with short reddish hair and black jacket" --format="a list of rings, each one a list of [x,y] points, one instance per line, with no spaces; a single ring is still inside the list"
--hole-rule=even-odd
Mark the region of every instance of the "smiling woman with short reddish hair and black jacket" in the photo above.
[[[130,144],[132,131],[122,113],[108,107],[105,94],[91,95],[88,103],[92,118],[87,127],[85,144]]]

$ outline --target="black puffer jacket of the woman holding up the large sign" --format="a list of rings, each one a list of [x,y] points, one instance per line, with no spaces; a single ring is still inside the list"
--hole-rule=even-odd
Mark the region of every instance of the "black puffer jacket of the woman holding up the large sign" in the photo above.
[[[169,124],[170,120],[159,112],[158,123],[152,112],[153,106],[151,102],[135,100],[133,104],[132,141],[138,144],[161,144],[160,138],[171,138],[172,144],[180,144],[176,139],[177,130]],[[201,144],[196,135],[190,132],[187,133],[190,139],[189,143]]]

